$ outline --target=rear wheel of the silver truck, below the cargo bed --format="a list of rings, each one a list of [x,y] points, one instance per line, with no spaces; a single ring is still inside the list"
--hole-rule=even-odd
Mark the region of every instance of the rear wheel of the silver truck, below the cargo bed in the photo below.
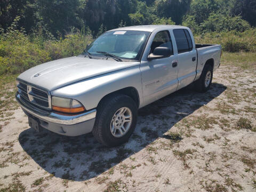
[[[209,78],[209,74],[211,75]],[[210,65],[205,65],[202,71],[200,78],[195,82],[195,89],[198,92],[206,92],[210,89],[212,85],[212,76],[213,76],[213,69]],[[206,79],[208,79],[208,83],[206,83]]]

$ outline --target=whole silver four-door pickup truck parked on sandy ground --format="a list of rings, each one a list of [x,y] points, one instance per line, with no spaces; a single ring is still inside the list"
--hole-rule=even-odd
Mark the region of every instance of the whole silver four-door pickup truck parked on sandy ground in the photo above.
[[[134,131],[139,108],[191,83],[209,90],[220,57],[221,45],[195,44],[187,27],[113,29],[81,55],[20,74],[16,99],[37,131],[92,132],[103,145],[117,146]]]

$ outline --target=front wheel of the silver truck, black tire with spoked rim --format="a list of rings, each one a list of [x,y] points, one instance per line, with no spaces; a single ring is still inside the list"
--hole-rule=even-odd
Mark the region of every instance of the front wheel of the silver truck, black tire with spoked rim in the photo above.
[[[121,113],[121,111],[125,111],[125,114],[123,116],[122,114],[116,115],[119,112]],[[99,103],[92,134],[98,142],[102,143],[105,146],[119,146],[128,141],[131,134],[133,133],[137,123],[137,113],[138,108],[132,98],[124,94],[109,95],[107,98],[103,99]],[[113,118],[114,115],[115,118]],[[119,116],[121,116],[120,119],[118,119]],[[127,116],[131,116],[131,118],[127,118]],[[129,119],[131,121],[122,123],[123,120],[121,118],[125,119],[125,121],[128,121]],[[115,121],[113,121],[113,119],[115,119]],[[116,124],[116,122],[119,124]],[[130,125],[128,126],[129,123]],[[121,129],[121,127],[125,126],[126,128],[129,127],[126,132],[124,131],[124,129]],[[115,129],[115,127],[119,127],[119,129]],[[116,132],[113,131],[115,132],[115,135],[111,132],[111,130],[116,130]],[[123,135],[120,130],[122,131]]]

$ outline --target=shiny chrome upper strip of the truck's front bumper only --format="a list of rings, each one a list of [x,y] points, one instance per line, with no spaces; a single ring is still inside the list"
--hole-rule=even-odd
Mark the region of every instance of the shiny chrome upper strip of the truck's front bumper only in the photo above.
[[[97,113],[96,109],[93,109],[78,115],[61,115],[54,113],[52,111],[39,109],[34,105],[31,105],[29,102],[21,99],[19,93],[16,94],[15,98],[23,110],[46,122],[52,122],[63,125],[74,125],[95,118]]]

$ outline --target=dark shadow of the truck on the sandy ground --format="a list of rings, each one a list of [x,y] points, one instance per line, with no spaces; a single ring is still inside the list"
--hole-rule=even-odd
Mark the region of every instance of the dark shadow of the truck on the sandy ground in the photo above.
[[[47,130],[35,133],[31,128],[20,133],[19,142],[39,166],[55,177],[88,180],[138,153],[158,137],[172,139],[164,133],[226,89],[226,86],[218,83],[213,83],[206,93],[197,93],[186,87],[141,108],[132,137],[119,147],[102,146],[91,133],[65,137]]]

